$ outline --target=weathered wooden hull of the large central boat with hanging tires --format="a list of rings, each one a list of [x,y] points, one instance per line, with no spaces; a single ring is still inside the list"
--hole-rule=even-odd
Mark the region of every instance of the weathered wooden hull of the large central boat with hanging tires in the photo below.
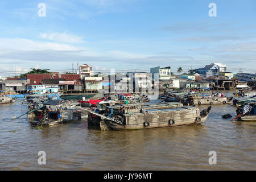
[[[208,114],[202,115],[198,108],[170,111],[166,113],[126,114],[125,125],[105,120],[106,125],[113,130],[137,130],[159,127],[175,127],[198,125],[207,119]],[[200,119],[198,119],[200,118]],[[146,125],[145,123],[149,123]]]

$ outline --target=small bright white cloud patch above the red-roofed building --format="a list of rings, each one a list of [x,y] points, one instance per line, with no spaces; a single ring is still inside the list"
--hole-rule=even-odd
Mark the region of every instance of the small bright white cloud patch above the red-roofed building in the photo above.
[[[40,33],[40,38],[46,39],[46,40],[53,40],[56,42],[65,42],[65,43],[82,43],[84,42],[82,40],[82,37],[72,35],[72,34],[66,34],[64,33],[51,33],[51,34],[46,34],[46,33]]]

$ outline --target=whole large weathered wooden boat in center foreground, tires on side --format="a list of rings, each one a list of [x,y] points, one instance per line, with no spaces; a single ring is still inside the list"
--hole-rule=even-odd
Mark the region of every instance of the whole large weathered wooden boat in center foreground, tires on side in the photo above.
[[[207,119],[211,107],[201,113],[196,107],[180,103],[156,105],[128,104],[107,107],[103,112],[88,111],[88,125],[100,123],[101,130],[132,130],[200,124]]]

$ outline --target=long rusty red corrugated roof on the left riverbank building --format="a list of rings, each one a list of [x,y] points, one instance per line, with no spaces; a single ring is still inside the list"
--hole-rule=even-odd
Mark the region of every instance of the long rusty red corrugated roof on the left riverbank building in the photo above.
[[[69,75],[69,74],[28,74],[27,79],[30,83],[27,85],[42,85],[43,79],[60,79],[66,81],[75,81],[75,85],[82,85],[82,81],[79,75]]]

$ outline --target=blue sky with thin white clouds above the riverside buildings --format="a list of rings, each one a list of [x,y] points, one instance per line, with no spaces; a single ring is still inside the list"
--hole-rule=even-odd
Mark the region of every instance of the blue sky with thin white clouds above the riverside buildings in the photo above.
[[[208,15],[212,2],[217,17]],[[254,0],[1,1],[0,76],[77,62],[101,72],[171,66],[176,73],[210,63],[256,72],[255,10]]]

